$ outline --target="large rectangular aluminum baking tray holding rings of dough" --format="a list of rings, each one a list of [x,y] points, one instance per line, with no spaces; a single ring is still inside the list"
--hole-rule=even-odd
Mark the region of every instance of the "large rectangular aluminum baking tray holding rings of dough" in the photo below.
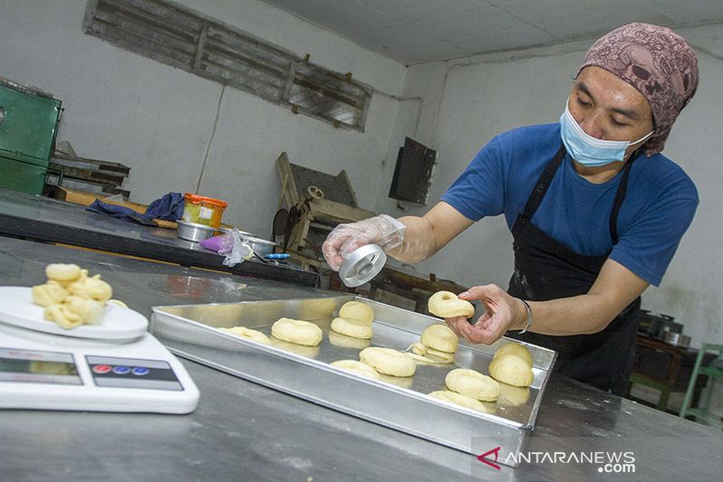
[[[339,308],[352,300],[362,301],[374,310],[371,340],[341,336],[330,330]],[[486,403],[491,413],[483,413],[441,402],[427,393],[444,390],[446,373],[454,368],[488,373],[494,352],[511,342],[507,338],[489,346],[469,345],[461,339],[455,364],[419,364],[413,377],[387,376],[376,381],[337,369],[330,363],[358,359],[359,352],[370,345],[405,350],[419,341],[427,326],[440,320],[351,295],[154,307],[153,310],[151,331],[174,354],[474,455],[500,447],[498,463],[504,463],[510,453],[516,454],[525,436],[534,428],[542,394],[557,357],[552,350],[527,345],[535,375],[529,392],[518,389],[510,395],[512,401]],[[270,336],[271,325],[280,317],[304,319],[320,326],[324,331],[321,345],[307,347],[280,340],[274,345],[260,345],[217,329],[246,326]],[[515,396],[521,398],[514,400]]]

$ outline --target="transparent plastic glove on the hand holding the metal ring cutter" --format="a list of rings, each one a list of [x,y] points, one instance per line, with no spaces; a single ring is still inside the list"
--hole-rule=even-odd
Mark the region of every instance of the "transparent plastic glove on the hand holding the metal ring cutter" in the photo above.
[[[387,214],[359,222],[339,224],[322,245],[324,259],[334,271],[338,271],[343,260],[362,246],[376,244],[382,250],[398,247],[404,240],[405,229],[404,224]]]

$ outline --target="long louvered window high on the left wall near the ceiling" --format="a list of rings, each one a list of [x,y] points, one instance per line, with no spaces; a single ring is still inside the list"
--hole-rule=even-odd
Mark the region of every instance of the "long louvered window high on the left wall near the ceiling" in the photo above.
[[[161,0],[89,0],[83,32],[294,112],[363,130],[371,88]]]

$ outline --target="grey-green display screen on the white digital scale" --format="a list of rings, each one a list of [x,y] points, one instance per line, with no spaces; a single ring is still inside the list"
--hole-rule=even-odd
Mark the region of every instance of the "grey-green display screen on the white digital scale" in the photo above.
[[[73,355],[0,347],[0,383],[82,385]]]

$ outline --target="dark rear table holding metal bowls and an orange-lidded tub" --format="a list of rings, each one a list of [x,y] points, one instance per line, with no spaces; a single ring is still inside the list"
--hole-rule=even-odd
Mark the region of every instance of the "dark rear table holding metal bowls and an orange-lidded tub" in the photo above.
[[[223,256],[195,242],[178,239],[174,230],[127,222],[107,214],[90,212],[78,204],[4,188],[0,188],[0,234],[290,281],[304,286],[313,287],[319,281],[316,273],[290,264],[248,260],[229,268],[223,265]]]

